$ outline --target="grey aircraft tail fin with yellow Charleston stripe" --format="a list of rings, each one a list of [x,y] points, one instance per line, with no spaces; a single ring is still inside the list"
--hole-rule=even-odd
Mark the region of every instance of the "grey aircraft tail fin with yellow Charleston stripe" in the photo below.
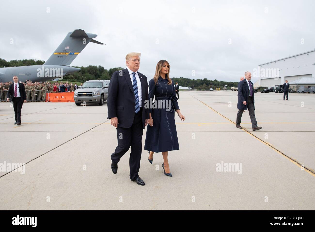
[[[89,42],[103,45],[93,39],[96,36],[81,29],[69,32],[44,65],[70,65]]]

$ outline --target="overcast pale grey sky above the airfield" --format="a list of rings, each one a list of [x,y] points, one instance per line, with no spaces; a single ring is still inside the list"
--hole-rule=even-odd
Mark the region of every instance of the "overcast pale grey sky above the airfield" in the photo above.
[[[71,66],[125,67],[135,51],[148,80],[165,59],[171,77],[238,81],[258,64],[315,49],[314,9],[313,0],[2,1],[0,58],[46,61],[80,28],[106,45],[89,43]]]

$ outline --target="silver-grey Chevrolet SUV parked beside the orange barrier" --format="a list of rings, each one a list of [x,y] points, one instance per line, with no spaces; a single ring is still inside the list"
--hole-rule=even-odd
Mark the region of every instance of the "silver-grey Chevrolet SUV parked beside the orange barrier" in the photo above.
[[[81,103],[98,103],[103,105],[107,100],[108,86],[110,80],[88,80],[74,91],[74,101],[76,105]]]

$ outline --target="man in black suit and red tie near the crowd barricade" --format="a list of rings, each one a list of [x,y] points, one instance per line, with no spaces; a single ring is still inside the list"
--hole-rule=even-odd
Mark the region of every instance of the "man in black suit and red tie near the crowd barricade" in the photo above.
[[[13,102],[13,109],[15,115],[15,123],[14,125],[21,125],[21,110],[23,106],[23,102],[26,102],[26,92],[24,84],[19,83],[19,78],[17,76],[13,76],[13,81],[9,86],[9,91],[7,93],[7,101]]]

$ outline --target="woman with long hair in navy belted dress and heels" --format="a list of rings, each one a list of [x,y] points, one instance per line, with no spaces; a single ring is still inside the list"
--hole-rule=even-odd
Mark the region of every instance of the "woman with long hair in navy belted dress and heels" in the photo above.
[[[157,101],[155,105],[154,96]],[[174,82],[169,78],[169,62],[166,60],[157,63],[154,78],[149,83],[149,101],[150,119],[144,149],[150,152],[148,160],[151,164],[154,152],[162,152],[164,174],[172,176],[167,156],[169,151],[179,150],[175,111],[181,121],[185,120],[185,116],[180,113]]]

